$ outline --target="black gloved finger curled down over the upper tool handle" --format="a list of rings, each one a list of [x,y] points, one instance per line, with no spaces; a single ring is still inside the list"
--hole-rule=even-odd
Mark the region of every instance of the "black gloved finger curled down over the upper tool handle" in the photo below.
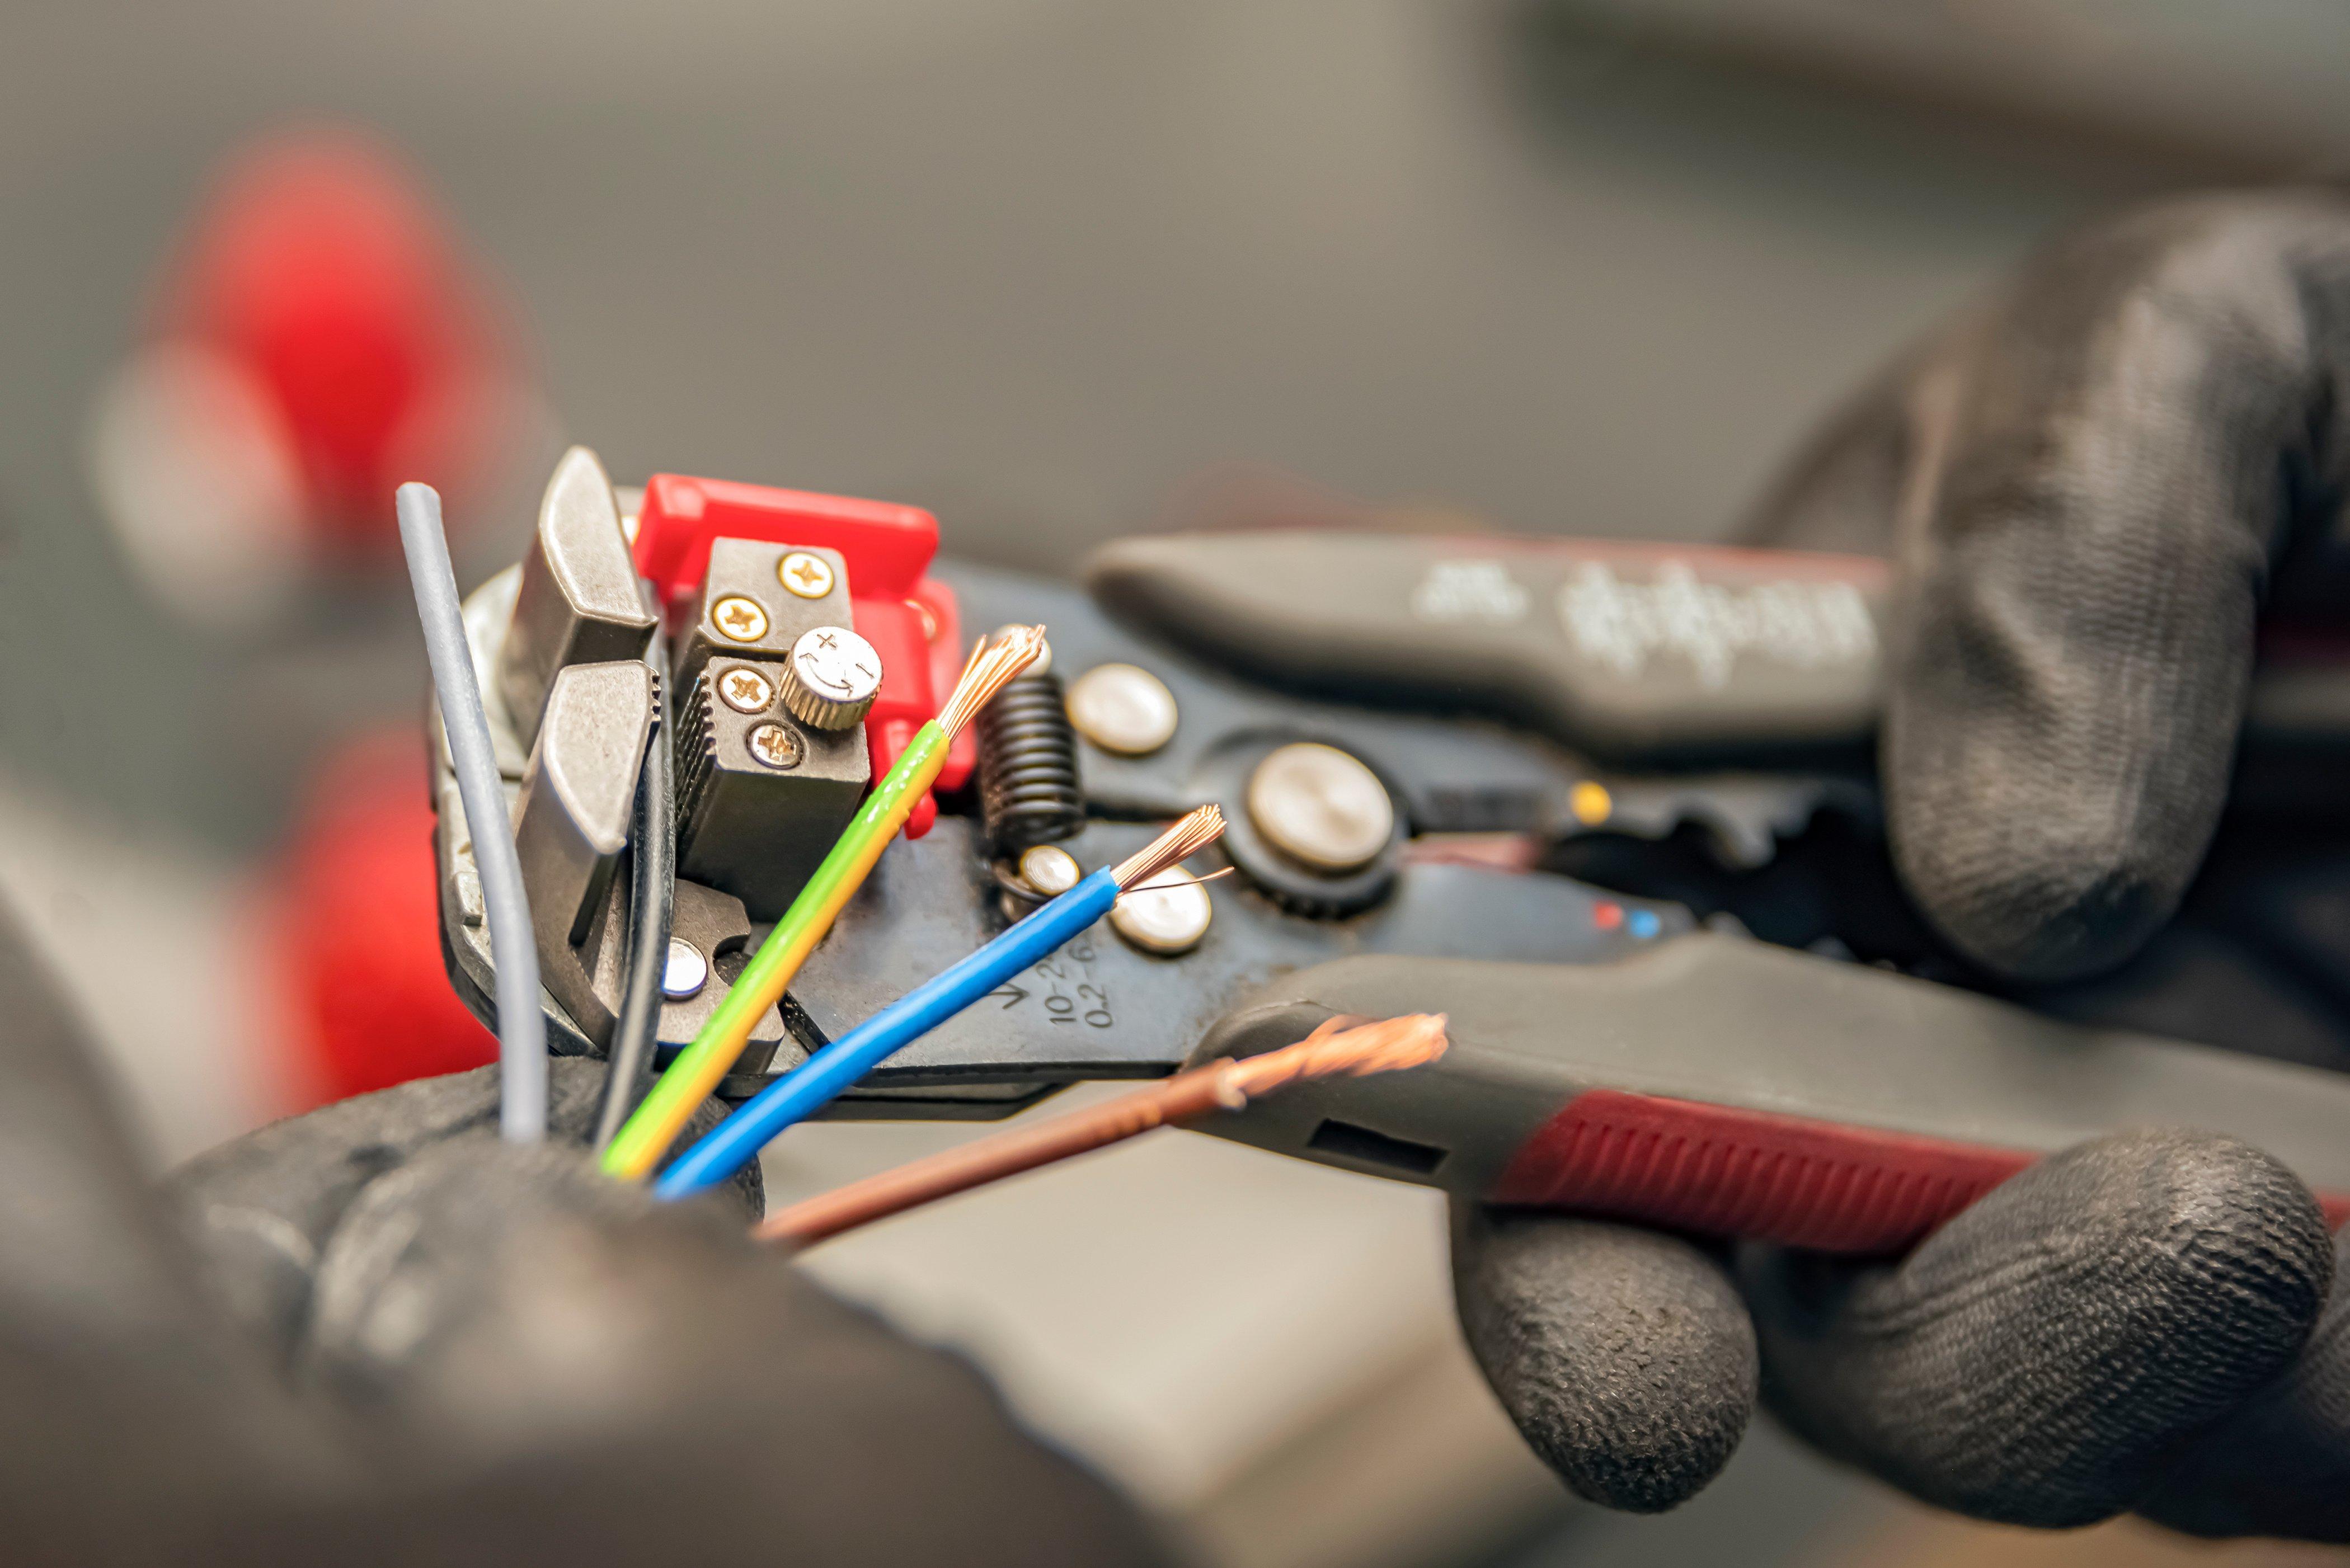
[[[1894,858],[1993,973],[2110,969],[2178,907],[2270,569],[2343,524],[2345,386],[2350,205],[2174,202],[2033,259],[1746,529],[1892,550]]]

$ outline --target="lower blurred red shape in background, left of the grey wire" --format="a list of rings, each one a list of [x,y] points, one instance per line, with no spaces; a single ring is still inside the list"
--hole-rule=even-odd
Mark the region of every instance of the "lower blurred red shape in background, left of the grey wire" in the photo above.
[[[442,969],[414,726],[362,736],[320,769],[273,891],[296,1110],[498,1058]]]

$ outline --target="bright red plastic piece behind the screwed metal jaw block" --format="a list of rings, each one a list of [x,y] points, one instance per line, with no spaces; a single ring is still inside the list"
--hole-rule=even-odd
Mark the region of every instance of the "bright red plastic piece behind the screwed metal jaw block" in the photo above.
[[[799,489],[693,480],[660,473],[644,487],[637,512],[637,571],[670,607],[693,599],[710,571],[712,538],[759,538],[776,545],[820,545],[848,562],[848,599],[858,635],[881,654],[881,696],[865,717],[865,745],[879,780],[938,717],[964,672],[961,616],[954,590],[926,576],[938,555],[938,517],[919,505],[818,496]],[[954,738],[940,790],[956,790],[978,762],[971,731]],[[905,835],[919,839],[938,818],[924,797]]]

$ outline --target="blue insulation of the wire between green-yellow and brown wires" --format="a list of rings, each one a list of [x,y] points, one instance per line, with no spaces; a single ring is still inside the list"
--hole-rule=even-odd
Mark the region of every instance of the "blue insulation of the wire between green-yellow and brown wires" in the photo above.
[[[891,1053],[947,1023],[1036,959],[1048,957],[1072,936],[1109,914],[1114,903],[1119,903],[1119,879],[1104,865],[996,940],[964,957],[952,969],[931,976],[761,1088],[743,1110],[719,1121],[700,1143],[679,1154],[660,1173],[660,1180],[653,1182],[653,1197],[682,1199],[705,1187],[717,1187],[759,1159],[759,1150],[766,1147],[768,1138],[832,1105],[841,1091],[853,1088],[867,1072],[888,1060]]]

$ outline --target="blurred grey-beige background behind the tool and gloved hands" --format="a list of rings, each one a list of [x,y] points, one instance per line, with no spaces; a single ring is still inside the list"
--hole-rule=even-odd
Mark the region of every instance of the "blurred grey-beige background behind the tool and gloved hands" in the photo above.
[[[2317,0],[19,0],[0,882],[164,1152],[266,1112],[268,1020],[223,978],[249,867],[324,748],[416,710],[409,611],[388,578],[258,639],[186,628],[82,461],[207,169],[258,132],[348,122],[414,160],[524,327],[545,456],[914,501],[954,552],[1062,574],[1267,496],[1718,534],[2052,228],[2343,167],[2343,61],[2350,12]],[[486,571],[526,494],[463,522]],[[783,1185],[947,1135],[815,1133]],[[973,1342],[1227,1561],[2167,1552],[1946,1528],[1770,1434],[1678,1516],[1579,1514],[1478,1403],[1417,1194],[1222,1147],[1114,1168],[830,1267]],[[1189,1241],[1107,1293],[1050,1267],[1154,1220]],[[1250,1324],[1321,1347],[1309,1387],[1229,1366]]]

